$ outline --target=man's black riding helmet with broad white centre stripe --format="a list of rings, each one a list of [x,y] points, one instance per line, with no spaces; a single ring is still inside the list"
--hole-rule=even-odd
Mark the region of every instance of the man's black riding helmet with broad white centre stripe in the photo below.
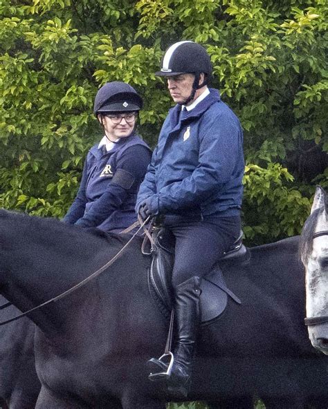
[[[188,102],[194,99],[197,89],[208,84],[212,75],[210,56],[205,48],[200,44],[194,43],[194,41],[179,41],[172,44],[165,51],[161,66],[161,71],[155,73],[155,75],[160,77],[173,77],[174,75],[185,73],[194,74],[192,93],[184,104],[188,104]],[[205,78],[202,84],[199,84],[201,73],[205,74]]]

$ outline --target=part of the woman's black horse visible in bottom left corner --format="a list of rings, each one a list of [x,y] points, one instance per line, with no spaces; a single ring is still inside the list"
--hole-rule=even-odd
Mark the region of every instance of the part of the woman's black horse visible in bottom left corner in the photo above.
[[[0,296],[0,305],[7,303]],[[2,319],[19,314],[11,306],[0,311]],[[22,318],[6,327],[0,327],[0,406],[3,409],[33,409],[41,384],[35,371],[35,325]]]

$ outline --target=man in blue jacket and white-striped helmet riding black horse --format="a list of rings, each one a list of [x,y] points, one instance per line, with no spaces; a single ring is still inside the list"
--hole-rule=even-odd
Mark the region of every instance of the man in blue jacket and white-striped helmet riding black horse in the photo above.
[[[235,242],[241,229],[243,134],[235,113],[208,88],[210,56],[193,41],[170,46],[156,75],[167,77],[176,106],[161,129],[136,211],[162,216],[176,239],[172,272],[178,331],[169,390],[185,397],[199,327],[201,278]],[[167,364],[151,359],[152,380]],[[158,377],[156,377],[156,373]]]

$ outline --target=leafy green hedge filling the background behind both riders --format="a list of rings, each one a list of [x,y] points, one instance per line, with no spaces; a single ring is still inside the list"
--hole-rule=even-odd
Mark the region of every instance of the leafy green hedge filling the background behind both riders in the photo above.
[[[0,206],[64,215],[102,136],[104,82],[143,95],[139,131],[155,146],[172,101],[154,72],[192,39],[245,131],[248,242],[298,234],[314,185],[327,187],[327,14],[323,0],[1,1]]]

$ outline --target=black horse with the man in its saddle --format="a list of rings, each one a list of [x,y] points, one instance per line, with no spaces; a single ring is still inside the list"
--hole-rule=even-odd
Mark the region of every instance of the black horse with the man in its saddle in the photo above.
[[[110,260],[127,237],[0,211],[0,291],[27,311],[73,287]],[[222,264],[242,299],[202,328],[188,399],[211,408],[327,408],[328,357],[304,326],[299,238],[250,249]],[[37,325],[37,409],[164,409],[165,386],[149,382],[167,321],[147,285],[149,257],[134,239],[96,279],[28,316]],[[9,324],[11,325],[11,324]]]

